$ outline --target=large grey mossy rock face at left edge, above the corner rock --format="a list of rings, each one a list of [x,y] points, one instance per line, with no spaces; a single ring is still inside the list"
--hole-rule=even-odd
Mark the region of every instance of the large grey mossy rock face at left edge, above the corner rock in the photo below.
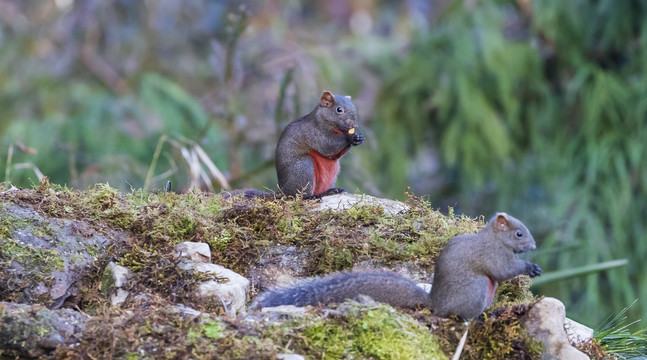
[[[78,294],[92,264],[126,244],[126,232],[89,221],[41,216],[30,206],[0,208],[0,300],[57,309]]]

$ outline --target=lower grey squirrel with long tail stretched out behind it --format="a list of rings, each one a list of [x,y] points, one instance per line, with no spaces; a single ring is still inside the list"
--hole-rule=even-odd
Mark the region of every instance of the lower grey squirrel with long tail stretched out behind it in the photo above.
[[[521,221],[497,213],[478,233],[449,240],[436,260],[431,294],[395,273],[342,272],[269,290],[252,307],[328,304],[367,295],[393,306],[424,306],[438,316],[471,319],[492,304],[499,282],[520,274],[541,275],[537,264],[516,256],[534,248],[535,240]]]

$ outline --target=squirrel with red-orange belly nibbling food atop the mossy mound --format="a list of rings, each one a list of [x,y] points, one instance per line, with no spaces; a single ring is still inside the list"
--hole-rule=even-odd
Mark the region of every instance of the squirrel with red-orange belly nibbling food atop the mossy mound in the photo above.
[[[276,146],[279,189],[286,195],[303,191],[321,196],[343,191],[334,189],[339,158],[364,141],[356,131],[358,117],[350,97],[324,91],[319,105],[291,122]]]

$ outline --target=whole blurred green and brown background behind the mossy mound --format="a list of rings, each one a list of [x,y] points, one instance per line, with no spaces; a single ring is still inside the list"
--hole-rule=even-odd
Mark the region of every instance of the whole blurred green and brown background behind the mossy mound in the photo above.
[[[323,90],[367,138],[337,186],[506,211],[537,294],[647,318],[640,0],[0,0],[0,181],[276,189]]]

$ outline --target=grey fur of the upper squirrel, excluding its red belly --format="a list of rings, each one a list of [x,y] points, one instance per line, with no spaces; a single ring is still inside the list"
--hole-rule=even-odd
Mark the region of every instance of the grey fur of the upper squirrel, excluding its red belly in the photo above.
[[[344,109],[342,114],[336,111],[340,106]],[[316,150],[324,156],[332,156],[346,147],[359,145],[364,139],[361,134],[347,134],[348,130],[357,127],[358,121],[357,109],[350,99],[334,95],[330,106],[324,106],[321,101],[309,114],[288,124],[276,146],[279,189],[286,195],[299,192],[313,195],[314,167],[307,154]],[[343,134],[336,134],[335,129]]]

